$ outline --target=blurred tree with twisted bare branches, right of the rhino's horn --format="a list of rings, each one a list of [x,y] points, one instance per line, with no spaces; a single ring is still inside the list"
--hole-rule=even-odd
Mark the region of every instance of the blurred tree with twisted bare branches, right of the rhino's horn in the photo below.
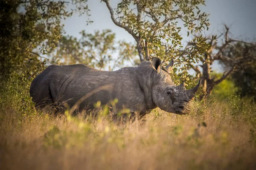
[[[223,34],[218,38],[223,38],[222,42],[216,42],[210,37],[201,37],[211,44],[204,57],[201,58],[201,65],[192,66],[198,77],[202,78],[203,91],[205,96],[212,93],[212,89],[226,79],[234,71],[241,71],[244,67],[250,66],[256,62],[256,43],[246,42],[243,40],[232,39],[229,36],[229,28],[225,26]],[[198,45],[195,42],[190,42],[188,45]],[[213,62],[219,62],[224,65],[225,71],[220,78],[211,77]],[[199,68],[201,67],[201,69]]]

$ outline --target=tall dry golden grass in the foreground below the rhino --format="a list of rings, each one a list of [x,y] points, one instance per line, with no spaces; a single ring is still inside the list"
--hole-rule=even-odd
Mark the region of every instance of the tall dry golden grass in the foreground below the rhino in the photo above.
[[[251,127],[231,123],[225,107],[213,102],[190,116],[156,109],[126,124],[82,115],[20,123],[9,109],[0,113],[0,169],[255,169]]]

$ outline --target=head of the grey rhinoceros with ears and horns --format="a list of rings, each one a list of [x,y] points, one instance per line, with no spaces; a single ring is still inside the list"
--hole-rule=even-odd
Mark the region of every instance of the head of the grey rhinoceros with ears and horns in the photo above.
[[[186,90],[184,83],[176,86],[171,79],[169,72],[172,70],[173,60],[166,66],[160,67],[160,59],[154,57],[151,67],[153,81],[151,86],[152,100],[160,109],[177,114],[189,114],[190,103],[195,98],[201,79],[194,88]]]

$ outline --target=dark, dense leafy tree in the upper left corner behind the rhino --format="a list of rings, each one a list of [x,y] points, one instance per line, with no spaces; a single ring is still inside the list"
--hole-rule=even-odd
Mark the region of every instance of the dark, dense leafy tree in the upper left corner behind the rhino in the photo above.
[[[81,13],[87,11],[87,0],[73,0]],[[56,47],[61,37],[61,20],[70,17],[65,1],[0,1],[0,79],[13,71],[37,74],[45,64],[41,54]]]

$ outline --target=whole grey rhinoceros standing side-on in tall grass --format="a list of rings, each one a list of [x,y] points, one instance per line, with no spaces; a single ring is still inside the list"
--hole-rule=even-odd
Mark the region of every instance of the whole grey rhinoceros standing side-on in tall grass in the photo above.
[[[130,113],[144,115],[159,107],[163,111],[189,114],[201,80],[186,90],[176,86],[169,72],[173,60],[161,67],[157,57],[143,61],[137,67],[117,71],[101,71],[87,65],[50,65],[32,81],[30,95],[40,108],[52,103],[66,102],[70,108],[90,110],[95,103],[107,105],[118,99],[116,110],[129,109]]]

